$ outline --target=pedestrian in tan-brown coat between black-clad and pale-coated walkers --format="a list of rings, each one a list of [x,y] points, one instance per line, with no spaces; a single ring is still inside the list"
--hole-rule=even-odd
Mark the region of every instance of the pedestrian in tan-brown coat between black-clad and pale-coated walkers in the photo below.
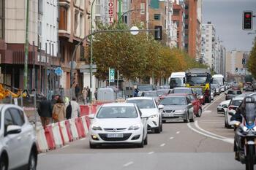
[[[52,114],[54,122],[65,120],[66,108],[61,98],[58,98],[56,104],[54,104]]]

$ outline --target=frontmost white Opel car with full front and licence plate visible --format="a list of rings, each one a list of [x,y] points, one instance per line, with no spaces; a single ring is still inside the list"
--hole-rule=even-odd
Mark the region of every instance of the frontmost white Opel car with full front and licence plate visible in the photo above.
[[[148,144],[147,118],[136,104],[103,104],[95,115],[89,115],[90,147],[102,144]]]

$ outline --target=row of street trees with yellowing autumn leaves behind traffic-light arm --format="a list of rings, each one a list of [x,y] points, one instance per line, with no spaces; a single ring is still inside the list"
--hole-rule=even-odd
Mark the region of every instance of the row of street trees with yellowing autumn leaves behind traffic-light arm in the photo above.
[[[99,24],[98,29],[129,28],[124,24],[108,27]],[[198,63],[177,48],[170,49],[161,45],[146,32],[136,36],[129,32],[95,34],[93,52],[94,63],[97,64],[95,75],[100,80],[108,79],[109,67],[118,70],[129,80],[143,80],[152,75],[159,80],[167,79],[172,72],[185,71]]]

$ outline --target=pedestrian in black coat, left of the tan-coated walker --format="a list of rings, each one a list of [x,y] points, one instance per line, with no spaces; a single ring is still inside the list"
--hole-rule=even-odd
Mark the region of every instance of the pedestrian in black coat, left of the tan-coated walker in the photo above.
[[[46,125],[50,124],[52,117],[51,104],[45,96],[42,97],[42,101],[40,101],[37,111],[40,116],[42,126],[45,128]]]

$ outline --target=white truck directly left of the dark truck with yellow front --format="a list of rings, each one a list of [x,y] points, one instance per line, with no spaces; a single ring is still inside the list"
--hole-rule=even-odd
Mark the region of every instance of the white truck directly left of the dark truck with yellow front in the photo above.
[[[177,87],[185,87],[186,86],[186,73],[185,72],[173,72],[170,74],[169,85],[170,89]]]

